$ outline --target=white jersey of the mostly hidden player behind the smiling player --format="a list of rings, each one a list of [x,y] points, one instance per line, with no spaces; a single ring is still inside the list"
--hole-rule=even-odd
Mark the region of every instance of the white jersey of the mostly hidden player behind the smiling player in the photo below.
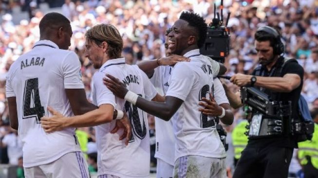
[[[166,95],[171,71],[172,67],[170,66],[159,66],[154,70],[153,76],[150,78],[151,83],[160,95]],[[174,165],[175,137],[172,129],[172,120],[164,121],[155,117],[155,126],[156,152],[154,157]]]

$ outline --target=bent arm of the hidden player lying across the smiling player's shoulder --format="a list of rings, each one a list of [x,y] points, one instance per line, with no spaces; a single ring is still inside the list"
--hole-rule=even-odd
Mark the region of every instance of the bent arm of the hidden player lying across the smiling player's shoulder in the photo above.
[[[171,66],[181,61],[190,61],[189,58],[180,55],[170,55],[157,60],[148,60],[138,64],[138,67],[144,71],[149,78],[152,77],[154,69],[158,66]]]

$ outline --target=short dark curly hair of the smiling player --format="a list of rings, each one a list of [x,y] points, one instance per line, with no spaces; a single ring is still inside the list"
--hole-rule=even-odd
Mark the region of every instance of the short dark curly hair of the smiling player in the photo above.
[[[188,22],[190,27],[194,27],[198,37],[198,47],[201,48],[206,41],[207,24],[206,20],[198,14],[184,11],[179,19]]]

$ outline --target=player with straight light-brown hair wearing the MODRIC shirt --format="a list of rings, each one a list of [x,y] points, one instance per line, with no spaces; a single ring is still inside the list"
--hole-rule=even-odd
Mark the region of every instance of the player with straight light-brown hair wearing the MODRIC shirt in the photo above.
[[[148,100],[157,100],[161,97],[157,95],[147,75],[138,66],[125,64],[125,58],[120,57],[123,40],[114,26],[96,25],[88,30],[85,36],[85,56],[92,61],[94,68],[99,69],[93,76],[93,102],[99,108],[71,118],[63,117],[53,110],[55,116],[42,118],[42,125],[50,131],[65,127],[88,126],[96,118],[101,118],[102,115],[99,113],[105,113],[105,110],[123,109],[128,113],[132,126],[132,134],[127,146],[125,142],[118,141],[120,135],[112,134],[117,131],[120,123],[111,121],[95,127],[98,178],[148,178],[150,141],[147,114],[130,102],[115,97],[103,85],[103,77],[106,73],[110,73],[120,78],[128,89]],[[103,106],[107,107],[102,108]],[[52,122],[55,125],[52,125]],[[119,134],[121,132],[118,131]]]

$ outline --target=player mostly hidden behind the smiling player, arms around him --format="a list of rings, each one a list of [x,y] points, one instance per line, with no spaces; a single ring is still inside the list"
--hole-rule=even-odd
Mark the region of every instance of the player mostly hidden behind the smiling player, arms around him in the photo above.
[[[172,29],[168,29],[166,32],[166,41],[165,41],[165,49],[166,56],[170,56],[170,49],[168,49],[168,34],[172,31]],[[207,57],[211,65],[215,65],[216,62],[211,58]],[[139,68],[145,71],[150,77],[151,83],[157,89],[160,95],[166,95],[168,90],[168,80],[172,71],[172,64],[175,64],[175,61],[165,60],[166,58],[159,59],[160,66],[156,66],[155,61],[145,61],[138,64]],[[181,56],[178,58],[181,60]],[[162,60],[162,61],[160,61]],[[180,62],[180,61],[179,61]],[[152,64],[154,63],[154,65]],[[159,65],[158,64],[158,65]],[[154,69],[155,68],[155,69]],[[212,89],[213,91],[213,89]],[[215,94],[214,94],[215,93]],[[214,79],[214,93],[213,96],[216,101],[216,106],[211,104],[212,102],[208,101],[208,104],[202,103],[203,106],[209,105],[210,110],[208,110],[207,115],[217,116],[214,111],[220,109],[220,107],[224,107],[228,109],[228,112],[231,113],[231,108],[228,104],[228,100],[225,95],[224,88],[218,78]],[[219,105],[220,104],[220,107]],[[201,103],[200,103],[201,105]],[[211,108],[213,107],[213,108]],[[222,110],[222,109],[221,109]],[[211,112],[212,111],[212,112]],[[177,117],[176,115],[174,117]],[[231,124],[233,122],[233,114],[227,114],[226,117],[222,118],[227,124]],[[164,121],[158,117],[155,117],[155,126],[156,126],[156,149],[155,149],[155,158],[157,158],[157,170],[156,177],[157,178],[171,178],[173,173],[173,165],[174,165],[174,150],[175,150],[175,138],[172,129],[172,121],[169,120]]]

